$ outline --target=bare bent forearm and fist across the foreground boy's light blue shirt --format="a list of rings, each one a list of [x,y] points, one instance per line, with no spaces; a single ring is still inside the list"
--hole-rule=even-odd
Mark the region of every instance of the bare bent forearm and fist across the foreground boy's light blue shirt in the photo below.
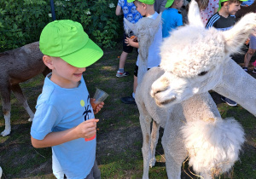
[[[32,146],[36,148],[52,147],[79,138],[90,138],[96,134],[98,121],[99,119],[92,118],[69,130],[50,132],[43,140],[37,140],[31,136]]]

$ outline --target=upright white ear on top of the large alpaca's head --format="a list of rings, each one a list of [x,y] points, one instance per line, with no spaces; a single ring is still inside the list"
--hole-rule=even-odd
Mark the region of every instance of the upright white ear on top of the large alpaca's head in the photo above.
[[[204,24],[201,20],[199,7],[198,7],[198,4],[195,2],[195,0],[192,0],[191,3],[189,4],[188,19],[189,19],[189,25],[204,27]]]

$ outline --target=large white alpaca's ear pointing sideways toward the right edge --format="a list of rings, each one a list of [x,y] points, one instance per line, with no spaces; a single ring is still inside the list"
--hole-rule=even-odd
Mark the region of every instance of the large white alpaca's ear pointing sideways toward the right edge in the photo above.
[[[241,49],[251,33],[255,33],[256,14],[246,14],[230,30],[222,32],[225,41],[225,51],[233,54]]]

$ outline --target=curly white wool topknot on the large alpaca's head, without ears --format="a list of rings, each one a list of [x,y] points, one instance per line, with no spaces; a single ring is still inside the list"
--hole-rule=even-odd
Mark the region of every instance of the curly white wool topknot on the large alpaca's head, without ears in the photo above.
[[[184,26],[172,32],[160,48],[160,66],[177,77],[194,78],[224,61],[224,39],[216,29]]]

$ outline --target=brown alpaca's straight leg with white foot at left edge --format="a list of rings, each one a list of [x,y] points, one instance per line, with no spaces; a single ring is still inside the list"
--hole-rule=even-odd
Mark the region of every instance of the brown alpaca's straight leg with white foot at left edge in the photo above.
[[[11,131],[11,125],[10,125],[10,87],[8,83],[1,84],[0,86],[0,93],[2,98],[2,106],[3,106],[3,116],[5,120],[5,129],[1,133],[2,136],[9,135]]]

